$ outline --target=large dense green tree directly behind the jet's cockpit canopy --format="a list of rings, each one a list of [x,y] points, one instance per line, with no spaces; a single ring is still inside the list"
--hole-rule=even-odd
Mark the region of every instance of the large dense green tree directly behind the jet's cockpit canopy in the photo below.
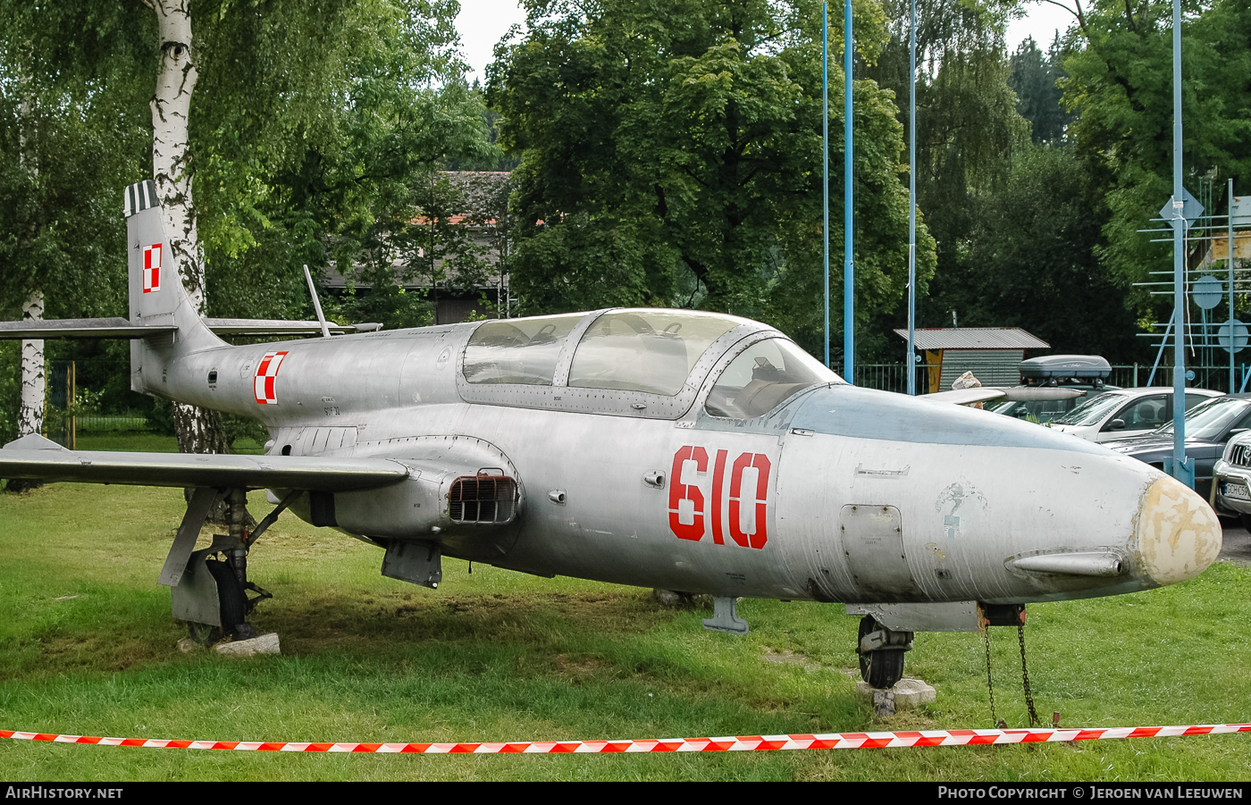
[[[767,316],[819,352],[821,5],[527,8],[525,36],[497,51],[488,84],[500,141],[522,154],[512,278],[523,308],[729,310]],[[879,6],[857,5],[862,58],[876,56],[881,26]],[[836,38],[832,61],[838,50]],[[834,65],[831,84],[841,109]],[[854,91],[857,214],[871,222],[857,230],[857,291],[868,316],[902,295],[907,196],[891,98],[872,81]],[[837,114],[831,130],[837,186]],[[831,235],[837,249],[841,226]]]

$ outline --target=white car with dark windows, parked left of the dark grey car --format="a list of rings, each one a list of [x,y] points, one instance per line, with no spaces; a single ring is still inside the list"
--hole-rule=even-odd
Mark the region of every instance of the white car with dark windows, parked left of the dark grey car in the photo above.
[[[1221,395],[1221,391],[1187,389],[1186,410]],[[1051,420],[1051,426],[1088,441],[1143,436],[1172,421],[1172,402],[1173,390],[1167,386],[1120,389],[1083,400],[1073,410]]]

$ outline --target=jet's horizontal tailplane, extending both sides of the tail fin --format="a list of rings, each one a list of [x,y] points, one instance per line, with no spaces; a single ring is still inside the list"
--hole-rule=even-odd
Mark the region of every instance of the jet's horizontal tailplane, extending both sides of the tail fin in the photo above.
[[[204,322],[218,335],[320,335],[317,321],[285,321],[281,319],[205,319]],[[330,332],[368,332],[380,329],[379,324],[332,324]],[[141,325],[128,319],[40,319],[25,321],[0,321],[0,339],[143,339],[163,332],[174,332],[170,324]]]

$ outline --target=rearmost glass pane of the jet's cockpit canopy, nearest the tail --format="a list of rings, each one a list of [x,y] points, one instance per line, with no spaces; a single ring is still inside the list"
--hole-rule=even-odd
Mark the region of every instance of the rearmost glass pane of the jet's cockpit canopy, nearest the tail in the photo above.
[[[583,314],[488,321],[465,346],[465,380],[549,386],[560,348]]]

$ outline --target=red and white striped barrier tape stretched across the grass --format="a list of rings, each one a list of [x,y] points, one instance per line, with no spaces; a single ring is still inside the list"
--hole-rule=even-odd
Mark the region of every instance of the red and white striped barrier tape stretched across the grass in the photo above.
[[[143,738],[89,738],[0,730],[0,738],[56,744],[144,746],[148,749],[230,749],[275,752],[377,752],[422,755],[550,755],[607,752],[733,752],[783,749],[893,749],[897,746],[973,746],[990,744],[1055,744],[1112,738],[1181,738],[1251,732],[1251,724],[1198,726],[1116,726],[1077,730],[922,730],[919,732],[827,732],[824,735],[739,735],[620,741],[520,741],[513,744],[299,744],[288,741],[175,741]]]

